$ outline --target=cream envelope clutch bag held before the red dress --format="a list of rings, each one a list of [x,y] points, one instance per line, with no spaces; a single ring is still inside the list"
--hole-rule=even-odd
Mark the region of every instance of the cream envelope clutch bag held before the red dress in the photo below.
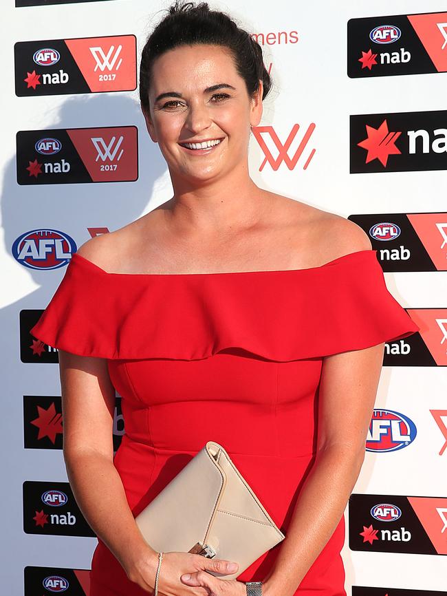
[[[285,535],[219,443],[208,441],[135,518],[155,551],[197,553],[239,564],[235,579]]]

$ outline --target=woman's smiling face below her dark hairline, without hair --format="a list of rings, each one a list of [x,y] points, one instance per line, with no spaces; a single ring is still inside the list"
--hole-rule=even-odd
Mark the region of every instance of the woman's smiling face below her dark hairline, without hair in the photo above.
[[[144,117],[173,181],[197,184],[247,170],[250,126],[261,120],[261,98],[261,82],[257,97],[248,96],[226,47],[184,45],[159,56]],[[206,147],[197,145],[203,142]]]

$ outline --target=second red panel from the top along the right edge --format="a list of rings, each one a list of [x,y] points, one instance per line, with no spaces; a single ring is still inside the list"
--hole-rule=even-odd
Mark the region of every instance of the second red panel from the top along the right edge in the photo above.
[[[447,213],[408,213],[407,217],[437,270],[446,271]]]

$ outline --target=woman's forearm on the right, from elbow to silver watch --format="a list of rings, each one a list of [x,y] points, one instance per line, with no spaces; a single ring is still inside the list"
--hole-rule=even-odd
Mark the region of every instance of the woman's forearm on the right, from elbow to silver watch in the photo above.
[[[296,501],[292,520],[264,579],[265,596],[292,596],[340,522],[363,454],[348,447],[320,451]]]

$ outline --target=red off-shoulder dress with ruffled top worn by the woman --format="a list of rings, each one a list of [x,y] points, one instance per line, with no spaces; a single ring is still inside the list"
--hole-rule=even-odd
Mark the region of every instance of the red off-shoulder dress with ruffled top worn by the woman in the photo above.
[[[74,254],[32,328],[47,345],[107,359],[125,435],[114,464],[134,515],[206,441],[223,445],[287,536],[316,452],[323,356],[419,330],[374,250],[319,267],[107,273]],[[342,517],[297,596],[345,596]],[[237,579],[262,580],[281,543]],[[147,596],[100,540],[91,596]]]

